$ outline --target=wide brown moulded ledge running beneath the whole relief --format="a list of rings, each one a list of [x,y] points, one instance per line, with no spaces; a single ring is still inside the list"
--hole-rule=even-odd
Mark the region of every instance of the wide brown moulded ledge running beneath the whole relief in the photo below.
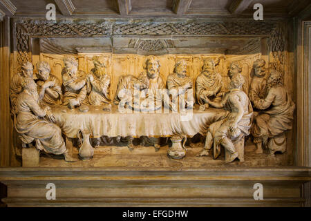
[[[311,181],[305,167],[260,169],[1,168],[8,206],[305,206]],[[57,200],[46,200],[46,184]],[[253,186],[264,186],[254,200]]]

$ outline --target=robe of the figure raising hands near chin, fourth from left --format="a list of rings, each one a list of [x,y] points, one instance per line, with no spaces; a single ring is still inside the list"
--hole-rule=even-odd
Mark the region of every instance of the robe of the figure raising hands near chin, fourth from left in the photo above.
[[[92,70],[93,72],[94,70]],[[93,75],[93,81],[91,84],[91,93],[88,95],[88,104],[95,106],[102,106],[109,104],[111,99],[109,98],[109,87],[111,82],[111,77],[109,75],[104,75],[102,78]]]

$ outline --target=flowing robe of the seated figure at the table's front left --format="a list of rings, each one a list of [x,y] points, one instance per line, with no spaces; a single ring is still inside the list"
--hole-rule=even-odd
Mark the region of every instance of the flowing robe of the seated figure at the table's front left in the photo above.
[[[56,124],[41,118],[45,115],[46,111],[39,106],[35,98],[23,91],[16,102],[14,124],[17,133],[26,144],[36,140],[36,147],[40,151],[63,154],[66,146],[62,131]]]

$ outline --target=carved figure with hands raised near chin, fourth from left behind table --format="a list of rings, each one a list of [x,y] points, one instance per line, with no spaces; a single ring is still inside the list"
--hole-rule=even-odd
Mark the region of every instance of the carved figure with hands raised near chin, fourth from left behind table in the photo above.
[[[91,90],[88,95],[88,104],[95,106],[103,106],[111,103],[109,96],[109,88],[111,77],[106,73],[106,65],[100,57],[93,57],[94,68],[91,74],[87,76],[88,90]],[[108,107],[111,111],[111,105]]]

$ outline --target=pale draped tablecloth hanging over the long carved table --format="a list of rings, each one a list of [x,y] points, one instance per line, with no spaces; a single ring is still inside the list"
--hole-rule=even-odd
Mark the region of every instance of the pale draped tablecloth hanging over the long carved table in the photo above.
[[[79,131],[87,131],[92,137],[193,137],[197,133],[205,135],[210,124],[227,115],[221,109],[194,109],[192,119],[182,121],[180,113],[120,113],[117,106],[113,106],[111,112],[102,111],[102,107],[89,106],[86,113],[80,112],[78,108],[70,110],[66,106],[55,106],[53,113],[56,124],[70,138],[76,138]]]

